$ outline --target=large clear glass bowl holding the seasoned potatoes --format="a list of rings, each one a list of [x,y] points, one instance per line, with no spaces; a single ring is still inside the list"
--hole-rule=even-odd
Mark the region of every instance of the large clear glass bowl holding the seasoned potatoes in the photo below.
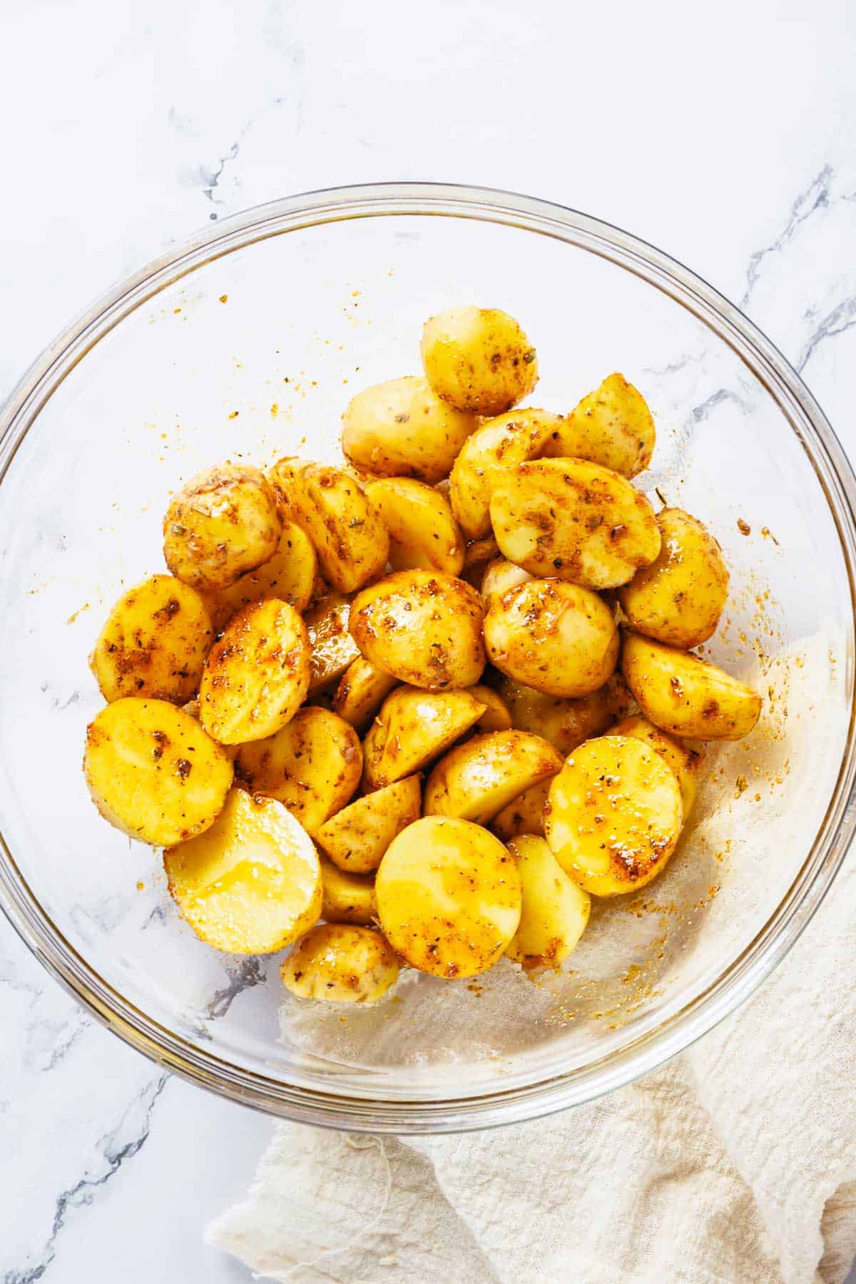
[[[209,950],[158,853],[95,813],[87,654],[157,570],[181,479],[226,456],[338,458],[367,384],[418,372],[425,317],[518,317],[533,404],[570,410],[612,370],[658,431],[639,483],[699,516],[732,568],[706,648],[765,695],[748,741],[710,746],[666,873],[601,903],[563,972],[408,973],[372,1009],[287,995],[277,958]],[[628,234],[497,191],[313,193],[207,227],[56,339],[1,415],[0,896],[24,941],[121,1037],[194,1082],[353,1130],[454,1131],[590,1100],[742,1003],[823,900],[853,832],[853,496],[821,410],[692,272]]]

